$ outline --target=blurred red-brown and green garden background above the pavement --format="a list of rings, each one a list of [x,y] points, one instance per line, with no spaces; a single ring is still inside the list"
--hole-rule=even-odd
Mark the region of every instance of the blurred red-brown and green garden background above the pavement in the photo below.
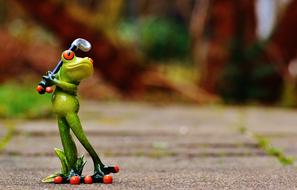
[[[0,0],[0,117],[50,116],[36,91],[90,41],[95,101],[295,107],[297,0]]]

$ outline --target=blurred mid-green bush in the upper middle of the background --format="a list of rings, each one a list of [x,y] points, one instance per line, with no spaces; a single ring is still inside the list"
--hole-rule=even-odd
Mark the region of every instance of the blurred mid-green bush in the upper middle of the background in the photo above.
[[[166,17],[145,17],[123,21],[119,27],[123,41],[136,43],[151,60],[185,59],[190,53],[186,26]]]

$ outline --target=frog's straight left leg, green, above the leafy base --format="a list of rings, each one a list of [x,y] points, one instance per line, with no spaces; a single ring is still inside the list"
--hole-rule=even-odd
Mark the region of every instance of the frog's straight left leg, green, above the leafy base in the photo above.
[[[65,117],[58,116],[58,126],[67,165],[70,170],[73,170],[77,161],[77,148],[75,146],[75,142],[73,141],[72,135],[70,134],[70,127]],[[69,172],[71,173],[71,171]]]

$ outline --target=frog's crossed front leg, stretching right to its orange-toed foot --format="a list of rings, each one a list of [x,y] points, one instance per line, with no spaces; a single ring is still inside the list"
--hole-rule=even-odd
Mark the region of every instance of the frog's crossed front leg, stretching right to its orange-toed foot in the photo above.
[[[119,171],[118,166],[106,166],[101,162],[99,156],[97,155],[94,148],[92,147],[89,140],[87,139],[77,114],[68,113],[66,115],[66,120],[71,130],[75,134],[75,136],[78,138],[80,143],[83,145],[83,147],[88,151],[88,153],[92,157],[92,160],[94,163],[94,173],[95,173],[93,177],[102,178],[104,175],[107,175],[109,173],[117,173]]]

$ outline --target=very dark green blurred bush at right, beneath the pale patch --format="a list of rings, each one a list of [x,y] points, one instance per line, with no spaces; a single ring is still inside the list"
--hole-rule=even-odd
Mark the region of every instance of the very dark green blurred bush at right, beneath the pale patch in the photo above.
[[[226,102],[273,102],[280,97],[282,79],[275,64],[263,56],[264,46],[264,42],[255,42],[245,47],[240,39],[230,43],[229,63],[219,84],[220,94]]]

